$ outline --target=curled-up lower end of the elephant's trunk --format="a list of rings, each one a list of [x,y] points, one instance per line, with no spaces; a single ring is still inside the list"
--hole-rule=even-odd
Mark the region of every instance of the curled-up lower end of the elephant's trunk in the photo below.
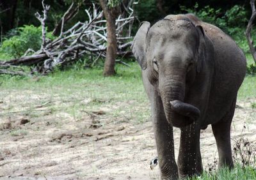
[[[182,128],[194,123],[200,117],[200,110],[180,100],[170,101],[170,116],[167,118],[172,126]]]

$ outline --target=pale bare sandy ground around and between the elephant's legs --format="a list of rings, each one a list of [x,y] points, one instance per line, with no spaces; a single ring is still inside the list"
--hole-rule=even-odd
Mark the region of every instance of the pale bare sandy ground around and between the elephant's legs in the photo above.
[[[149,167],[157,156],[149,114],[145,123],[134,123],[128,116],[109,116],[106,107],[76,119],[53,114],[47,95],[22,94],[10,91],[0,99],[0,179],[159,179],[158,167]],[[46,103],[36,105],[42,98]],[[255,101],[237,102],[232,139],[245,125],[243,135],[256,142]],[[51,103],[65,102],[57,97]],[[179,129],[174,136],[177,152]],[[202,130],[200,142],[205,167],[218,158],[211,126]]]

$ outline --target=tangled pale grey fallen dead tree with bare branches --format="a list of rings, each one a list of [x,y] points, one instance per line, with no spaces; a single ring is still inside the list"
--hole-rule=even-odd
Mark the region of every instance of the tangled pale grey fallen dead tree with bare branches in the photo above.
[[[24,56],[12,59],[10,61],[3,61],[0,63],[0,67],[4,68],[4,73],[8,73],[8,67],[34,65],[31,68],[31,72],[48,73],[52,71],[54,67],[61,66],[63,64],[72,63],[77,61],[80,57],[94,56],[95,61],[99,57],[106,57],[106,20],[103,19],[103,12],[99,11],[93,4],[92,10],[85,10],[88,15],[88,20],[85,22],[77,22],[67,31],[63,31],[65,26],[65,13],[63,15],[63,22],[61,23],[60,35],[54,40],[47,40],[45,37],[46,27],[45,20],[47,19],[47,11],[50,6],[43,5],[43,15],[36,13],[36,18],[40,20],[42,24],[42,47],[33,55]],[[73,6],[72,4],[71,6]],[[127,17],[120,15],[116,19],[116,37],[117,37],[117,54],[120,56],[131,56],[131,27],[134,20],[132,9],[129,8],[129,14]],[[70,8],[68,9],[70,11]],[[2,71],[0,71],[1,73]],[[13,74],[13,73],[12,73]]]

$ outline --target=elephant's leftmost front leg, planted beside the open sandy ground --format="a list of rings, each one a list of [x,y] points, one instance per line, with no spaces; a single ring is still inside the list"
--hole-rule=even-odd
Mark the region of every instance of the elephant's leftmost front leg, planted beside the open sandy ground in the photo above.
[[[152,118],[162,179],[179,179],[174,156],[173,128],[166,120],[159,96],[152,100]]]

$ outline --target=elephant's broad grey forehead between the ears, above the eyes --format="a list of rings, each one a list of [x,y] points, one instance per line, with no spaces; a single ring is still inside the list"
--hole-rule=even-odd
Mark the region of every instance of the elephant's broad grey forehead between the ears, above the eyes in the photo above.
[[[193,56],[199,38],[195,27],[170,29],[167,25],[170,24],[154,25],[148,31],[147,57]]]

